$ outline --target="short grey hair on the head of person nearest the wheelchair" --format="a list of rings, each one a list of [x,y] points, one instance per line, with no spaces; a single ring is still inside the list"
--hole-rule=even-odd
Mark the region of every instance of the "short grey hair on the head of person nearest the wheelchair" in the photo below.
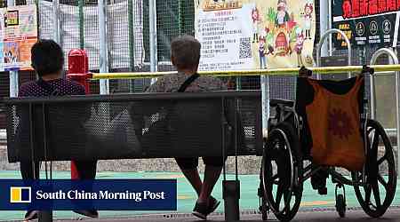
[[[195,68],[200,60],[201,44],[193,36],[180,36],[172,40],[172,62],[178,69]]]

